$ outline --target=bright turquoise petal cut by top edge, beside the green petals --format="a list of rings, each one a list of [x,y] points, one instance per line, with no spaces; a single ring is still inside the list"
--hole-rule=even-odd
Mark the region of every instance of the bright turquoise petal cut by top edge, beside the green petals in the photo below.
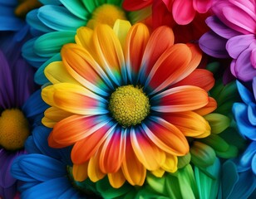
[[[90,13],[87,12],[86,8],[82,4],[81,0],[60,0],[62,4],[66,7],[66,9],[71,12],[76,17],[83,19],[84,21],[88,21],[88,17],[90,17]]]

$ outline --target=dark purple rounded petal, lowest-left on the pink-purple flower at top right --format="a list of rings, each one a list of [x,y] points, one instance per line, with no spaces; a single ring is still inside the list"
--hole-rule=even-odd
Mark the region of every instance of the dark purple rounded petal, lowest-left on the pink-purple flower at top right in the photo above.
[[[218,36],[214,32],[206,32],[199,39],[199,47],[209,56],[217,58],[228,58],[229,53],[226,51],[227,39]]]

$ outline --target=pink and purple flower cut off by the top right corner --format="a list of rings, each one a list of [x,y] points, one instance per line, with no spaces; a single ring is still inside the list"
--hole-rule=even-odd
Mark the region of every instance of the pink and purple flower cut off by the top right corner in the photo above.
[[[256,2],[215,0],[214,16],[206,19],[210,32],[199,39],[209,56],[231,57],[230,70],[239,80],[256,76]]]

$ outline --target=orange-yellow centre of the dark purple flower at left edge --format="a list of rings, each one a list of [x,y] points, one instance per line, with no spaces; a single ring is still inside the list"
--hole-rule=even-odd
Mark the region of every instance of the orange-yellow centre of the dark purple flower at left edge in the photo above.
[[[5,109],[0,117],[0,145],[7,150],[24,147],[29,135],[29,124],[19,109]]]

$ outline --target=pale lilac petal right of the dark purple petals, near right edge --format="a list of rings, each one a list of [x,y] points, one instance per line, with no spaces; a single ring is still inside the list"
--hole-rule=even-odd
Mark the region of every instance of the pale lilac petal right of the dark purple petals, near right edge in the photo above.
[[[253,34],[234,36],[227,42],[226,49],[229,56],[237,59],[242,51],[245,51],[255,41]]]

